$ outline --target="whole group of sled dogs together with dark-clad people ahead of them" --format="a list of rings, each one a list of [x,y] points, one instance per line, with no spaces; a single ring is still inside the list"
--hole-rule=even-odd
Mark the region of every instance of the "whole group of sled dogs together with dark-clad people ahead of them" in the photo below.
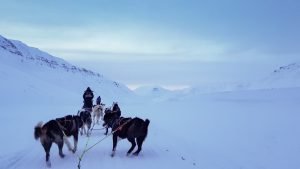
[[[85,134],[90,136],[92,123],[99,125],[100,118],[103,120],[103,127],[106,128],[105,134],[108,133],[108,128],[112,131],[113,149],[111,156],[115,155],[118,138],[125,139],[131,143],[131,147],[127,152],[130,155],[133,149],[138,146],[138,149],[133,155],[138,155],[142,150],[142,144],[147,137],[148,126],[150,121],[143,120],[138,117],[124,118],[121,116],[121,109],[117,102],[113,102],[112,107],[104,109],[105,104],[101,103],[101,97],[96,100],[96,105],[93,106],[93,91],[88,87],[84,94],[84,105],[82,110],[78,111],[77,115],[67,115],[65,117],[56,118],[43,124],[39,122],[34,128],[34,138],[40,140],[45,153],[46,164],[51,166],[50,149],[53,143],[57,144],[59,156],[63,158],[64,143],[68,149],[75,153],[77,150],[78,135]],[[92,118],[93,117],[93,118]],[[73,136],[74,146],[68,140],[68,137]]]

